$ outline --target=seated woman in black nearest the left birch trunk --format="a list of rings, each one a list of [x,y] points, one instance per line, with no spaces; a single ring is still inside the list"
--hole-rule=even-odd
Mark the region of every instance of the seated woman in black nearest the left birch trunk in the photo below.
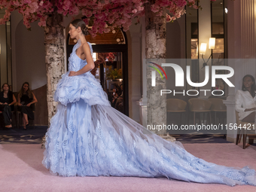
[[[29,83],[23,83],[18,95],[18,111],[23,114],[23,129],[26,130],[26,126],[29,125],[29,119],[34,119],[34,113],[32,104],[38,102],[34,93],[29,89]]]

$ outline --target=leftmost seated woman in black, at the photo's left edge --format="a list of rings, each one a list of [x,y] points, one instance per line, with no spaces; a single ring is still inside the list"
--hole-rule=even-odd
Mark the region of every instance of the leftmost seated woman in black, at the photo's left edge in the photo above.
[[[0,111],[2,111],[5,119],[5,127],[11,128],[11,111],[14,111],[14,103],[17,101],[8,84],[3,84],[2,89],[3,91],[0,93]]]

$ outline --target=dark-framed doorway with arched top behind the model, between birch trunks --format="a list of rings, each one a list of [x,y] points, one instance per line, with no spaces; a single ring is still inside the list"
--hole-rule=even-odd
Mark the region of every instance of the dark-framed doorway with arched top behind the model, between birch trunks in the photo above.
[[[129,115],[129,98],[128,98],[128,45],[126,33],[122,29],[114,29],[111,32],[105,34],[98,34],[96,37],[91,35],[85,36],[88,42],[93,46],[93,53],[96,53],[96,57],[100,53],[115,53],[114,62],[108,62],[105,60],[106,64],[100,64],[97,70],[99,80],[101,81],[102,87],[108,94],[109,100],[111,100],[111,95],[114,92],[114,88],[119,89],[119,98],[111,103],[112,106],[117,110],[123,112],[123,114]],[[72,53],[72,48],[74,47],[74,39],[67,35],[66,39],[66,58],[69,58],[70,53]],[[95,59],[95,58],[93,58]],[[69,61],[67,60],[69,65]],[[111,66],[111,69],[110,69]],[[108,69],[107,69],[108,68]],[[122,78],[113,79],[114,70],[117,69],[122,72]],[[116,71],[117,71],[116,70]],[[117,86],[117,87],[116,87]]]

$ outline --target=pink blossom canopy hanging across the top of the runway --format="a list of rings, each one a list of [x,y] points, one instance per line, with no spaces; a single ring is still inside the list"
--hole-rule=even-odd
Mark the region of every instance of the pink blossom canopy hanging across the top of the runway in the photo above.
[[[166,21],[171,22],[185,13],[185,6],[198,8],[197,0],[155,0],[151,5],[151,11],[158,16],[163,15],[163,9],[168,9],[171,15],[166,15]],[[215,1],[215,0],[210,0]],[[29,29],[30,23],[39,20],[39,26],[46,26],[49,14],[56,8],[58,14],[78,15],[79,11],[87,17],[87,24],[93,20],[90,34],[108,32],[115,27],[123,27],[126,31],[132,24],[134,17],[142,17],[145,14],[145,3],[148,0],[2,0],[0,8],[5,8],[5,16],[0,19],[0,24],[10,20],[11,11],[18,10],[23,15],[23,23]],[[111,26],[106,29],[105,26]]]

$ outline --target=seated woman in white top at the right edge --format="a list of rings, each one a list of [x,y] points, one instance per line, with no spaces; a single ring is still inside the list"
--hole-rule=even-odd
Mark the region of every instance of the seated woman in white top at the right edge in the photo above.
[[[242,78],[242,90],[236,91],[236,111],[239,120],[254,122],[256,110],[255,79],[251,75]]]

